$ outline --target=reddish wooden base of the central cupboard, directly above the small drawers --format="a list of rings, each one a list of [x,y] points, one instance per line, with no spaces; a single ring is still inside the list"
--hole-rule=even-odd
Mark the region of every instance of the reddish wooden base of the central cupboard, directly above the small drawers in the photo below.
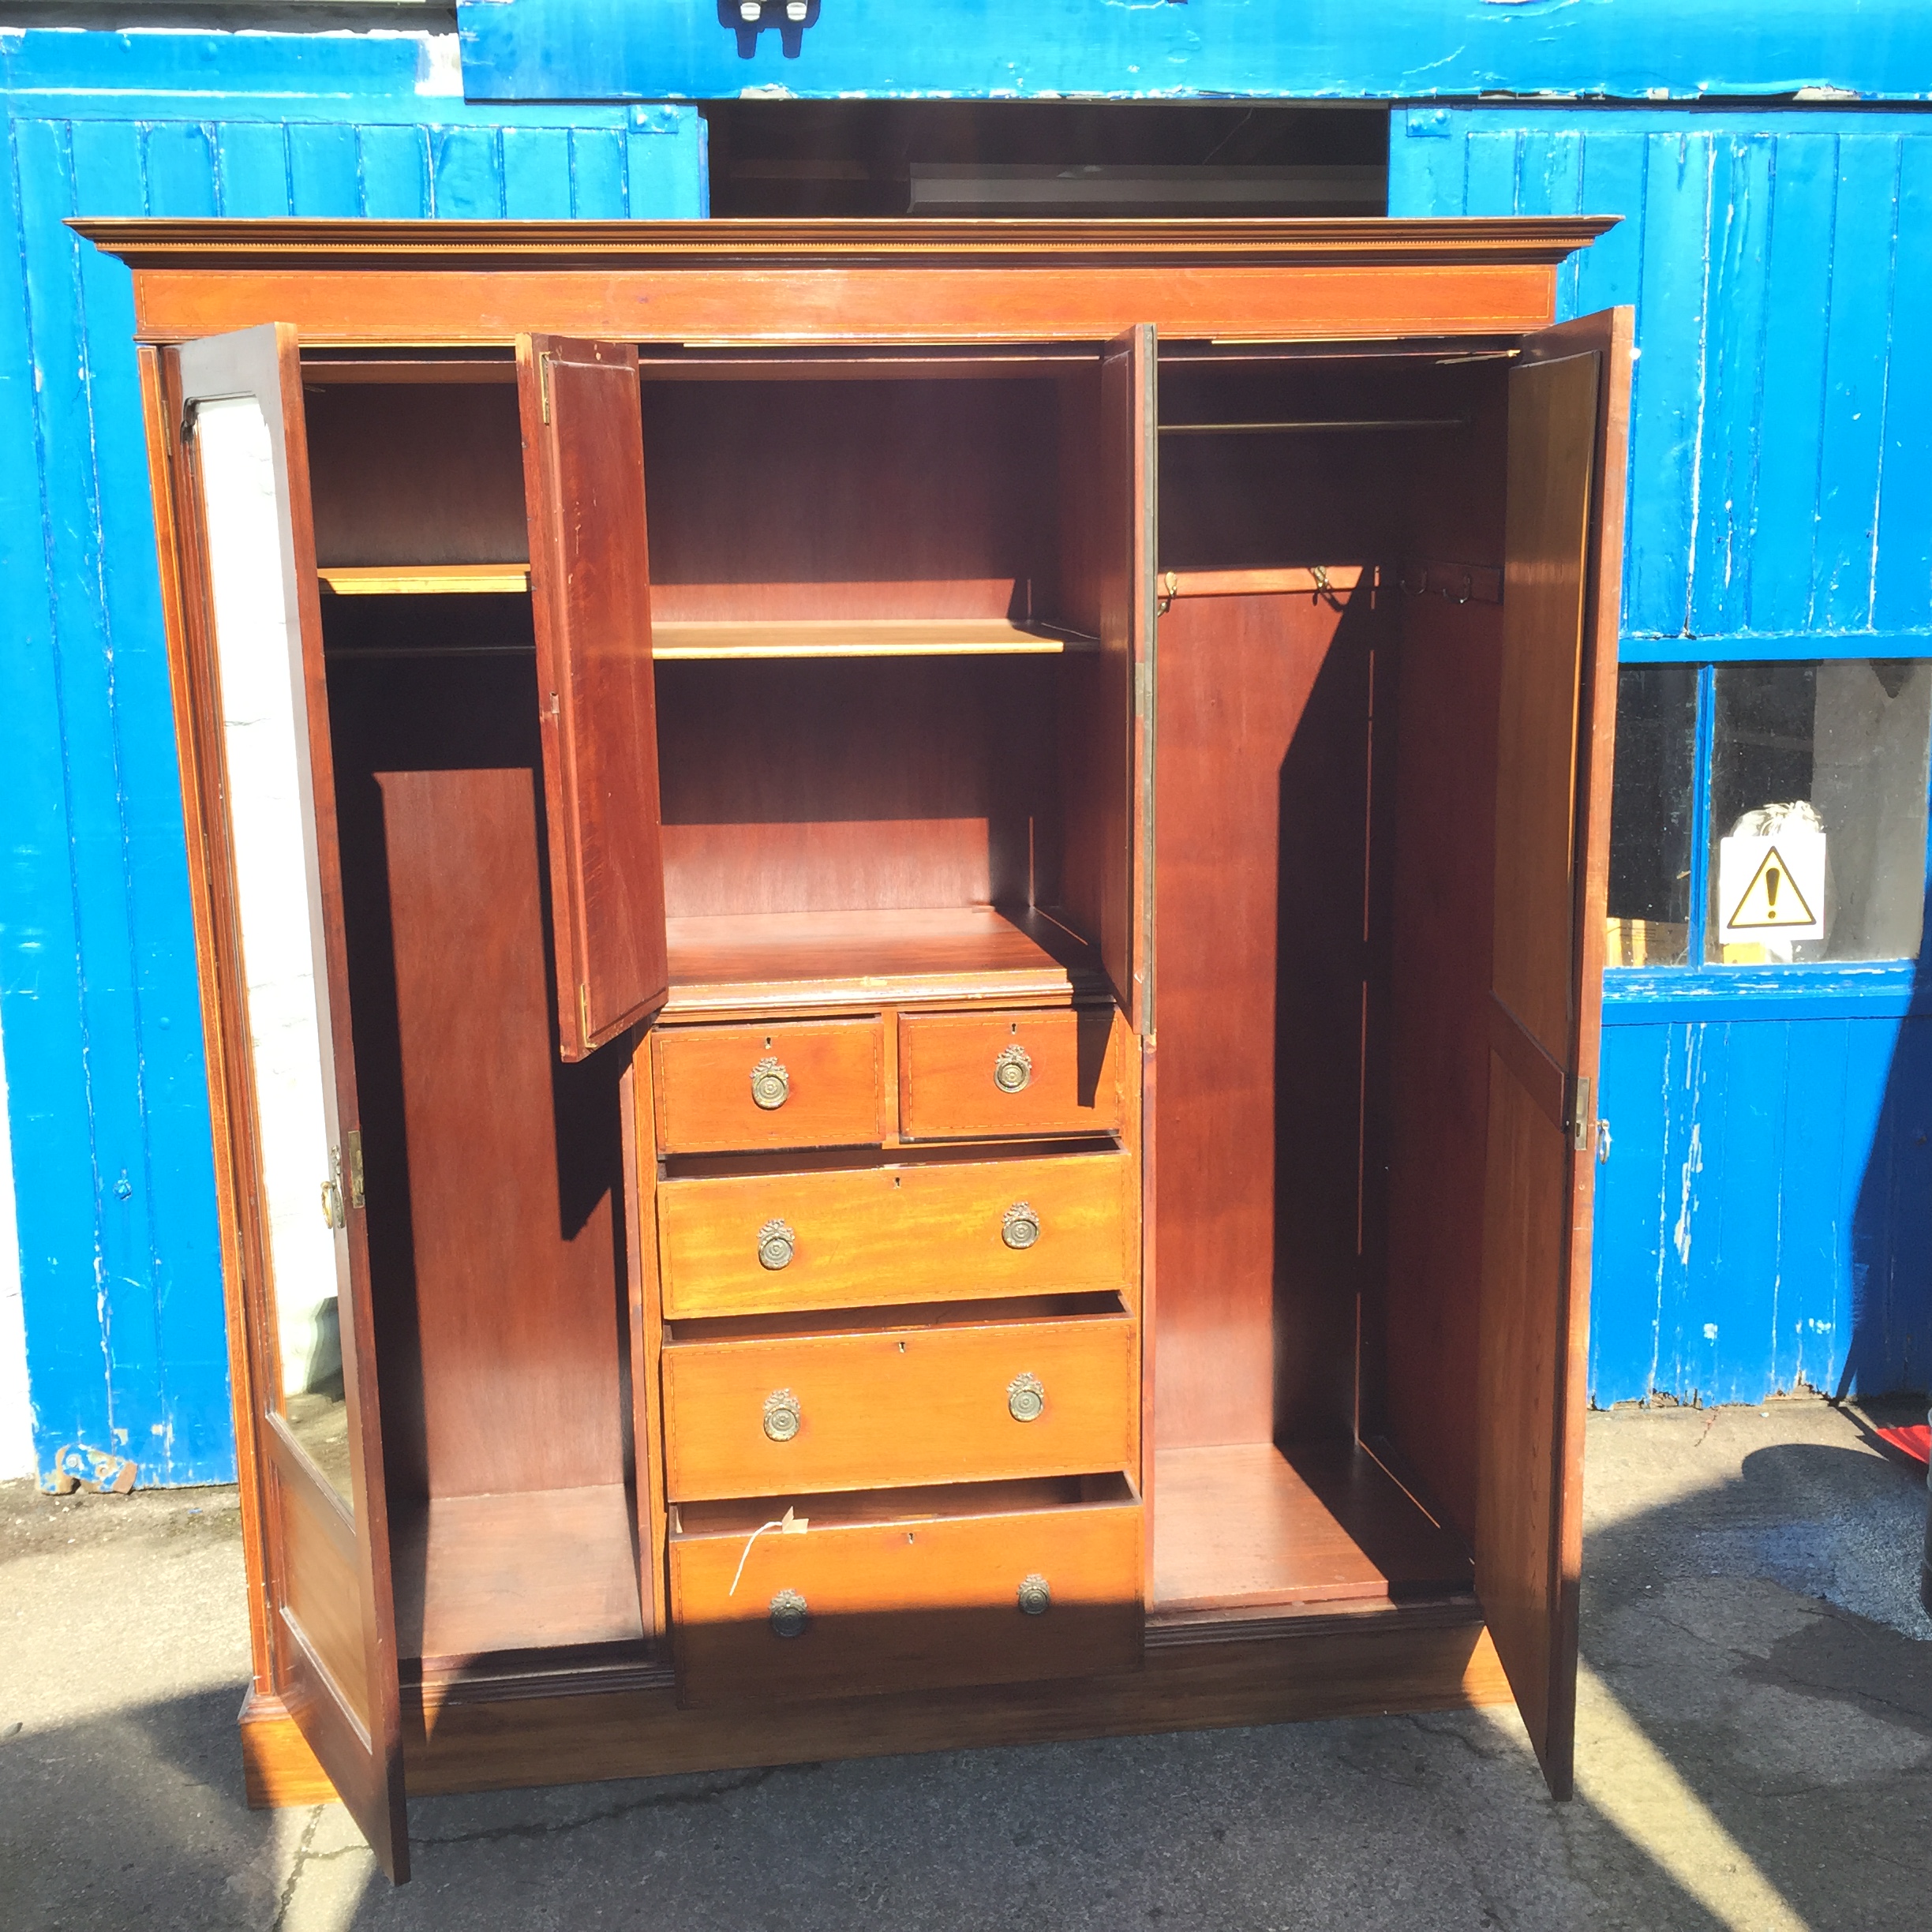
[[[879,1007],[895,999],[1045,999],[1105,987],[1088,945],[1041,914],[753,912],[667,920],[667,1012]]]

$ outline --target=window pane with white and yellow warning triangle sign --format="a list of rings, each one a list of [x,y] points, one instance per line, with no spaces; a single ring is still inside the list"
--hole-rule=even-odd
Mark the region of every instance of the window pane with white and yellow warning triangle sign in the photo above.
[[[1719,665],[1704,956],[1918,952],[1932,665]]]

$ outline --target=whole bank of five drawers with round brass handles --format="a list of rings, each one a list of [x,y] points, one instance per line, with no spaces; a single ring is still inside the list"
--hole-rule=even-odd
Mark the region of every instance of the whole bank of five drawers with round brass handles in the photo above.
[[[1122,1032],[1065,1007],[655,1032],[686,1704],[1138,1662]]]

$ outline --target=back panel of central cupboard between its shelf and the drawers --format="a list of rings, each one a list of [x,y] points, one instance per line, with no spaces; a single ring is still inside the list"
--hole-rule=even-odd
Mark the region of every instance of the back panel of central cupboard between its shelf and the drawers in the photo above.
[[[1053,904],[1055,665],[659,663],[667,912]]]

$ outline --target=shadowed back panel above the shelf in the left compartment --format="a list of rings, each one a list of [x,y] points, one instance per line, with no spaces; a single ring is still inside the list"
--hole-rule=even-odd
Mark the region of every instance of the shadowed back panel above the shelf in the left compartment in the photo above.
[[[309,383],[303,400],[319,562],[529,560],[512,384]]]

